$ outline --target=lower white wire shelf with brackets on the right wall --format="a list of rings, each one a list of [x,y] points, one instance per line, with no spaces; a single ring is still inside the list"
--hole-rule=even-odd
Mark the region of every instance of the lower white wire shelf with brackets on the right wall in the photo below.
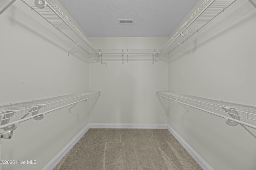
[[[200,98],[185,94],[174,94],[171,92],[156,92],[157,96],[168,98],[174,103],[180,103],[183,107],[190,106],[196,109],[208,112],[210,114],[222,117],[230,126],[240,124],[254,138],[254,135],[246,126],[256,129],[256,107],[242,104],[234,104],[218,100]],[[187,109],[187,107],[185,107]],[[188,110],[188,109],[187,109]]]

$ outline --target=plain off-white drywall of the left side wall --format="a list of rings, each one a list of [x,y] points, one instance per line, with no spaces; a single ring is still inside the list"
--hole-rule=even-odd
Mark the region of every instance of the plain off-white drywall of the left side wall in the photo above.
[[[68,56],[75,43],[22,1],[1,14],[0,22],[0,105],[88,91],[87,53],[78,48]],[[36,160],[2,169],[44,168],[88,125],[87,102],[68,113],[70,107],[19,123],[12,139],[1,139],[2,160]]]

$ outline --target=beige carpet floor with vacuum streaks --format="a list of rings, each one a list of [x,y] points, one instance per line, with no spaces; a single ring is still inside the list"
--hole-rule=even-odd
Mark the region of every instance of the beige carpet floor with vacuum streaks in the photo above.
[[[201,170],[167,129],[89,129],[54,170]]]

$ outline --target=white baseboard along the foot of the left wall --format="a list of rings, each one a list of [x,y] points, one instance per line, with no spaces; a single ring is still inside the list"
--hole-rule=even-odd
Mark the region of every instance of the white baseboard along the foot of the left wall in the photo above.
[[[89,129],[90,125],[84,127],[82,131],[80,131],[66,147],[64,147],[42,170],[52,170],[62,158],[68,153],[68,151],[78,142],[78,140],[86,133]]]

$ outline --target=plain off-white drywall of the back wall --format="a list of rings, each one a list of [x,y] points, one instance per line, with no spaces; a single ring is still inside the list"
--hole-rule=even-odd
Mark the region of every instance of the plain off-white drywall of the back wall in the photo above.
[[[168,38],[90,38],[100,49],[154,49]],[[162,55],[164,57],[164,55]],[[168,63],[152,54],[103,55],[103,62],[89,65],[89,90],[100,90],[90,123],[167,123],[167,115],[156,96],[168,89]]]

